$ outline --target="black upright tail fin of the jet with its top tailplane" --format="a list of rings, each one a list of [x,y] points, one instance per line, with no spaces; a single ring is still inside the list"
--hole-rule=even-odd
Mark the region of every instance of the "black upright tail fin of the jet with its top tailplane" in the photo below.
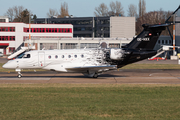
[[[170,24],[142,25],[144,30],[134,38],[126,48],[136,50],[153,50],[161,32]]]

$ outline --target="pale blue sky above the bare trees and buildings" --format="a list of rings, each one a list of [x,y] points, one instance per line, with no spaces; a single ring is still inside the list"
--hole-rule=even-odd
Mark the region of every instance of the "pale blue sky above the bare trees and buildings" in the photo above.
[[[111,1],[116,0],[0,0],[0,16],[4,16],[8,8],[13,6],[23,6],[36,14],[38,18],[46,18],[49,9],[56,9],[59,11],[61,3],[68,3],[69,14],[74,17],[93,17],[95,7],[101,3],[109,6]],[[117,0],[121,2],[125,16],[127,16],[128,6],[134,4],[138,8],[139,0]],[[174,11],[180,5],[179,0],[145,0],[146,12],[162,10]]]

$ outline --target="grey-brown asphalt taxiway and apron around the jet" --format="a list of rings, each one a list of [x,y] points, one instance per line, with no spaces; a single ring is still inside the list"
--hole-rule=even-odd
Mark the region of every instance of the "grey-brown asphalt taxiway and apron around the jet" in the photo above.
[[[0,58],[0,63],[7,59]],[[136,64],[177,64],[177,61],[144,60]],[[36,84],[36,83],[91,83],[91,84],[180,84],[180,70],[120,70],[100,75],[97,79],[88,78],[81,73],[62,72],[22,72],[23,77],[17,78],[17,73],[0,73],[0,83]]]

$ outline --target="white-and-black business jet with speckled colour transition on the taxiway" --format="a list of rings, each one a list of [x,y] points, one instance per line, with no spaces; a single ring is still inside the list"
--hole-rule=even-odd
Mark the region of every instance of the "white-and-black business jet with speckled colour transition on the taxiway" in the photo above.
[[[3,68],[15,69],[19,78],[22,69],[45,69],[59,72],[80,72],[97,78],[103,72],[117,70],[127,64],[150,58],[157,54],[153,50],[161,32],[170,23],[147,25],[126,46],[114,48],[33,50],[9,60]]]

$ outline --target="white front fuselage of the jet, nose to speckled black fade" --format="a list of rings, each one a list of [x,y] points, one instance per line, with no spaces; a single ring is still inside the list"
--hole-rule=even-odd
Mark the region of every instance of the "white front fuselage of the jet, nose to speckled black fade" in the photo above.
[[[9,69],[47,69],[69,72],[66,68],[106,65],[100,49],[29,51],[10,60],[3,67]]]

